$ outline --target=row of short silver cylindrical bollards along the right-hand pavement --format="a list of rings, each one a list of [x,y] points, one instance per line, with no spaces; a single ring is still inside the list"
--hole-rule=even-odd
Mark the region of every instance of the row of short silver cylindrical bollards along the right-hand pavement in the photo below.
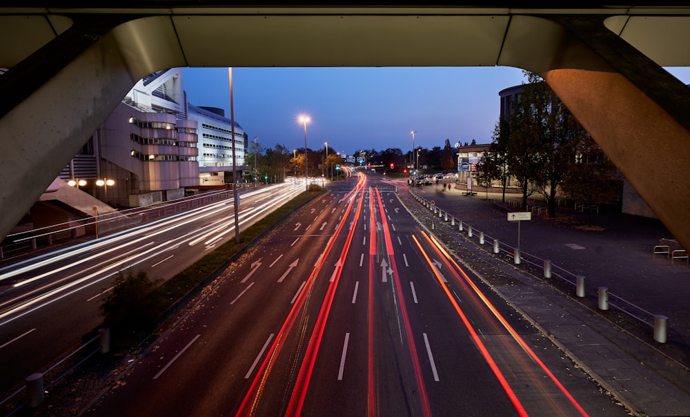
[[[438,209],[435,203],[426,202],[422,197],[415,195],[417,201],[422,202],[424,206],[427,206],[434,214],[438,213],[439,217],[442,217],[445,213],[445,221],[448,222],[449,214],[444,212],[442,209]],[[472,226],[465,225],[462,220],[458,220],[458,231],[463,231],[467,229],[467,236],[473,236]],[[451,215],[451,226],[455,226],[455,216]],[[484,232],[480,232],[479,235],[480,244],[484,244]],[[500,242],[497,239],[493,240],[493,253],[500,253]],[[520,264],[520,248],[513,248],[513,262],[517,265]],[[544,260],[544,278],[551,278],[551,260]],[[575,295],[580,298],[585,296],[585,286],[584,286],[584,276],[578,275],[575,283]],[[609,310],[609,289],[608,287],[599,287],[598,291],[598,307],[602,311]],[[668,321],[669,318],[666,316],[655,315],[654,316],[654,340],[659,343],[666,343],[668,336]]]

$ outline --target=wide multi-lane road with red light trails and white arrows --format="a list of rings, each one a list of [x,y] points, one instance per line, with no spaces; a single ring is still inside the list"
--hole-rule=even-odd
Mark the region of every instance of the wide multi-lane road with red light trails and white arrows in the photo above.
[[[93,416],[627,416],[359,171],[173,322]]]

